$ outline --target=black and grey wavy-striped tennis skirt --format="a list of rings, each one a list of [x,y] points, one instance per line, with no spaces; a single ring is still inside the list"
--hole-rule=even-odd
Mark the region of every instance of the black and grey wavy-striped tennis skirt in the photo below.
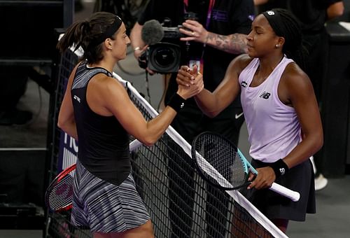
[[[97,178],[77,161],[71,223],[92,232],[125,232],[150,220],[130,174],[120,186]]]

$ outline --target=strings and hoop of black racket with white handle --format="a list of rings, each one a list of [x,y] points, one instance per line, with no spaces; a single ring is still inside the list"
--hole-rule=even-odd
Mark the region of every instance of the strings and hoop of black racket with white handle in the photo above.
[[[198,166],[211,182],[228,189],[246,183],[247,174],[237,148],[226,139],[206,134],[197,138],[195,148],[200,155],[197,155]]]

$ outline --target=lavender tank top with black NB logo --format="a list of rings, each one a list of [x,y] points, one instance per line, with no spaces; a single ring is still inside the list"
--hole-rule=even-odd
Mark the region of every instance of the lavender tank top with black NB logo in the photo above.
[[[255,160],[275,162],[286,157],[301,141],[295,109],[281,102],[277,87],[292,59],[283,57],[274,71],[258,87],[250,87],[259,59],[253,59],[239,75],[241,105],[248,128],[249,153]]]

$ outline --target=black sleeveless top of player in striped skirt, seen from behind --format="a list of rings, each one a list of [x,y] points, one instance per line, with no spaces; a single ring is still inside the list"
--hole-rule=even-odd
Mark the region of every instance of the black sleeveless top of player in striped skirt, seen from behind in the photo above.
[[[118,186],[130,174],[129,134],[115,116],[100,116],[88,106],[87,84],[97,73],[113,77],[106,69],[89,68],[86,61],[81,62],[71,87],[78,131],[78,160],[94,176]]]

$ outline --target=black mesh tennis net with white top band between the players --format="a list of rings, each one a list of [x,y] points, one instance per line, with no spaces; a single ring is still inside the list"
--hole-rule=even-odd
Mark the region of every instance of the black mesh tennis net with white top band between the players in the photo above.
[[[62,102],[69,72],[78,62],[78,55],[81,52],[69,50],[62,55],[54,103],[56,112]],[[116,73],[114,77],[123,83],[130,99],[146,120],[158,115],[132,83]],[[52,120],[52,131],[55,132],[52,137],[53,178],[57,172],[75,162],[76,151],[69,152],[69,149],[63,148],[65,153],[59,152],[64,144],[62,140],[69,139],[57,130],[57,113]],[[132,173],[137,190],[151,215],[155,237],[286,237],[238,191],[218,190],[202,180],[190,156],[190,144],[172,127],[153,146],[144,146],[132,137],[130,141]],[[69,223],[69,213],[62,215],[66,219],[57,216],[48,211],[51,222],[46,225],[49,233],[50,230],[59,230],[51,228],[53,224],[57,225],[59,221]],[[73,230],[77,234],[77,229]],[[54,237],[60,236],[55,233]]]

